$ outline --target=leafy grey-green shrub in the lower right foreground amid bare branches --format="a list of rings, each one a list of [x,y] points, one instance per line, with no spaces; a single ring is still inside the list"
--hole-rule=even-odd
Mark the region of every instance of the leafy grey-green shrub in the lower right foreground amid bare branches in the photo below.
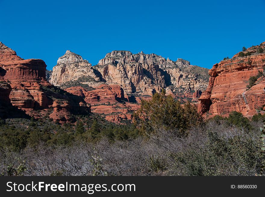
[[[207,132],[203,146],[186,149],[172,155],[173,168],[168,175],[224,176],[252,175],[259,171],[262,161],[251,136],[224,137],[214,131]]]

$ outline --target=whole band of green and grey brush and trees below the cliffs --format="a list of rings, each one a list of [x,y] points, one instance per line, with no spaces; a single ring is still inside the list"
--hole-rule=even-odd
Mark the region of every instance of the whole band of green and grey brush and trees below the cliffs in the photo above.
[[[97,115],[75,124],[0,119],[2,175],[250,175],[260,173],[265,115],[241,113],[206,121],[190,103],[164,92],[142,101],[134,124]]]

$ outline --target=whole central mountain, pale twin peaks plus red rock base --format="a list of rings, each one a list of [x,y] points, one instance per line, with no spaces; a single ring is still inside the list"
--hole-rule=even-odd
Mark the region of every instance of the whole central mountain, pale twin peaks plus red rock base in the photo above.
[[[50,82],[83,97],[92,112],[120,123],[132,120],[142,99],[150,99],[162,88],[179,99],[196,102],[208,84],[208,69],[192,66],[183,59],[172,61],[156,54],[112,51],[91,66],[67,51],[53,68]]]

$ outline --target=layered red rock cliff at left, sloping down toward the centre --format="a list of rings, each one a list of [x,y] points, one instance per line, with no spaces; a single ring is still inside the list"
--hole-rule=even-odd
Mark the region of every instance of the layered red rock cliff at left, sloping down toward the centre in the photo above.
[[[81,97],[62,94],[46,81],[43,60],[23,60],[3,43],[0,43],[0,54],[0,84],[5,84],[0,86],[1,101],[10,101],[36,118],[47,115],[48,109],[52,108],[50,117],[55,121],[68,121],[71,113],[90,111],[90,106]]]

